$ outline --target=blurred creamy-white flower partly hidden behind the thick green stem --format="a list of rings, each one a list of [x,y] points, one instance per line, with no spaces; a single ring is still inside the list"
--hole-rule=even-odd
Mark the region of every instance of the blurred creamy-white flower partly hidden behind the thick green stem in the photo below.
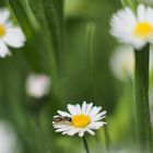
[[[119,46],[115,49],[110,58],[110,69],[119,80],[133,78],[134,52],[132,47]],[[153,50],[150,51],[150,74],[153,72]]]

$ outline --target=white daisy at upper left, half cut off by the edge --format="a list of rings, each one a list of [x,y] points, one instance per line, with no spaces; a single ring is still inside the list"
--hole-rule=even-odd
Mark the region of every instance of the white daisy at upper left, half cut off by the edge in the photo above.
[[[20,27],[13,26],[9,20],[10,11],[0,9],[0,57],[11,55],[8,46],[20,48],[24,45],[25,37]]]

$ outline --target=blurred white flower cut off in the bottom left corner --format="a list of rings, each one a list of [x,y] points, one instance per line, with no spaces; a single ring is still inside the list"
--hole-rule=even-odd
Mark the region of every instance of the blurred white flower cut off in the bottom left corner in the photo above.
[[[16,137],[8,123],[0,121],[0,153],[13,153],[16,146]]]

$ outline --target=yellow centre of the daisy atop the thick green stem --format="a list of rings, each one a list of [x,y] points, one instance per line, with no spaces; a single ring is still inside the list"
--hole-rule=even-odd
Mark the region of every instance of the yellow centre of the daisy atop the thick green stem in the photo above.
[[[138,22],[133,34],[140,38],[148,38],[153,34],[153,26],[148,22]]]

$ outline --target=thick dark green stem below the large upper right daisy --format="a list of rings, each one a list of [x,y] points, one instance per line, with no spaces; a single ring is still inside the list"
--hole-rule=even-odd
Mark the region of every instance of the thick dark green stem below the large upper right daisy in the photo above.
[[[153,152],[149,108],[149,49],[146,45],[142,50],[134,51],[136,128],[138,146],[142,152]]]

